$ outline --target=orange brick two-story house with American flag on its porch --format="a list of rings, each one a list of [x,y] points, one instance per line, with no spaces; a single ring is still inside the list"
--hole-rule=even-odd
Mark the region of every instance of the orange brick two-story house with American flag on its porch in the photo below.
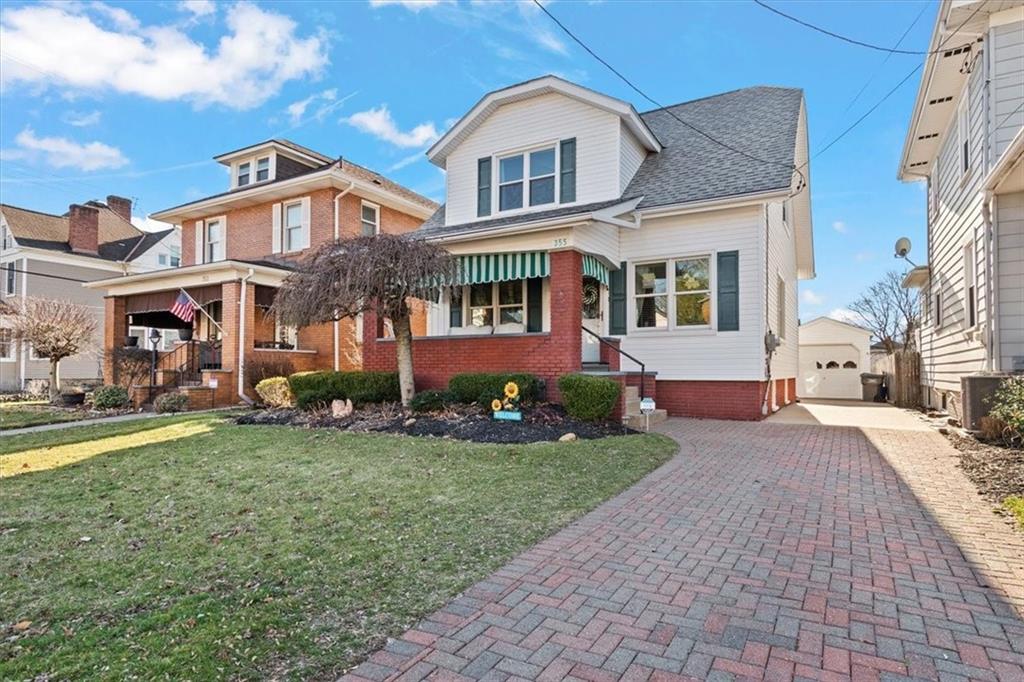
[[[161,390],[186,392],[195,407],[254,396],[247,368],[255,365],[359,368],[360,322],[287,328],[267,313],[274,293],[311,249],[360,232],[408,232],[437,205],[362,166],[289,140],[214,160],[229,170],[227,191],[152,216],[180,225],[181,267],[86,285],[106,295],[104,346],[122,345],[135,327],[191,330],[191,342],[161,355],[158,383]],[[170,312],[182,291],[202,307],[195,324]],[[421,314],[414,330],[424,329]],[[115,381],[115,368],[105,366],[103,377]],[[136,399],[148,394],[136,391]]]

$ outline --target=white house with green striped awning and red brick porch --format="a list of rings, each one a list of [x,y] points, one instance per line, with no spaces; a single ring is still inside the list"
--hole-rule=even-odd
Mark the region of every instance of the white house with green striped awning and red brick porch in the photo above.
[[[547,76],[487,94],[427,155],[446,203],[415,237],[453,253],[460,282],[414,341],[418,388],[523,371],[557,399],[560,375],[637,385],[642,363],[672,415],[759,419],[766,396],[795,399],[797,281],[814,274],[800,90],[638,114]],[[368,369],[394,367],[382,329],[364,327]]]

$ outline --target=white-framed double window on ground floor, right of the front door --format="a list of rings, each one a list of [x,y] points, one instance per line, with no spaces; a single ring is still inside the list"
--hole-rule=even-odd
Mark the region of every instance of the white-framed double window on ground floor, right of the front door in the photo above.
[[[711,325],[711,257],[635,265],[633,300],[637,329]]]

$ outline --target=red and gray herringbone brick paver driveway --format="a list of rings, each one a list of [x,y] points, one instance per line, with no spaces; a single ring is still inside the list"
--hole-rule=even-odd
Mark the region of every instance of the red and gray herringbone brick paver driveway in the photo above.
[[[997,519],[947,530],[977,496],[928,473],[949,464],[941,436],[666,430],[671,463],[350,678],[1024,680],[1024,622],[986,585],[1012,583],[1024,550]]]

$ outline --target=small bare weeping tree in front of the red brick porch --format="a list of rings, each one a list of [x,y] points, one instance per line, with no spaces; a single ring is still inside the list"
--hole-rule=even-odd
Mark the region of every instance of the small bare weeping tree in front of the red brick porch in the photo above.
[[[316,249],[285,280],[272,310],[295,327],[366,311],[390,319],[408,406],[415,392],[411,299],[436,300],[455,272],[455,260],[434,244],[396,235],[354,237]]]

